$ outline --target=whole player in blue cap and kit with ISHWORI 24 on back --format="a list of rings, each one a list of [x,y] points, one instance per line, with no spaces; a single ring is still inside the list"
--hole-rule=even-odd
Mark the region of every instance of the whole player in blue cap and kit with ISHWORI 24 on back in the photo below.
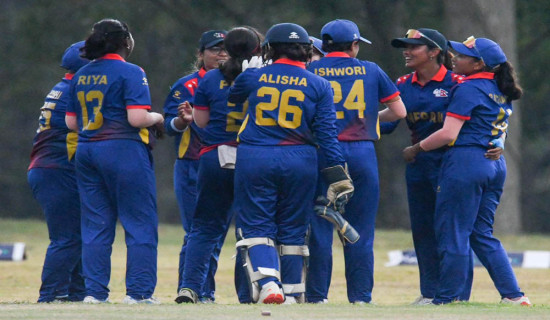
[[[348,300],[370,303],[373,287],[374,222],[378,211],[378,163],[374,141],[380,137],[379,121],[405,117],[399,91],[378,65],[356,59],[359,42],[370,43],[349,20],[334,20],[321,29],[327,54],[312,62],[310,71],[328,81],[334,91],[338,141],[355,185],[355,195],[346,205],[345,218],[359,232],[359,241],[344,246]],[[387,105],[378,111],[379,103]],[[320,167],[325,158],[320,157]],[[321,192],[326,190],[322,184]],[[307,299],[322,303],[328,299],[332,274],[333,226],[314,216],[311,221],[310,263]]]

